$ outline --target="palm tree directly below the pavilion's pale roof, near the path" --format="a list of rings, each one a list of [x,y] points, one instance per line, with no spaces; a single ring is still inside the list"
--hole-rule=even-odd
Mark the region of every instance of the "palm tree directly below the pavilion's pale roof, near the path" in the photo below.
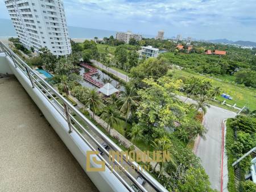
[[[104,119],[106,123],[108,123],[107,130],[109,135],[113,124],[118,123],[118,116],[119,112],[113,106],[106,106],[102,111],[101,118]]]

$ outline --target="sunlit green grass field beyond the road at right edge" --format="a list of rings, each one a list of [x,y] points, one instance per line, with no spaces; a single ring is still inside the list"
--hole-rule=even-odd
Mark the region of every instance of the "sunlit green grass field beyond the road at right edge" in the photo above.
[[[233,97],[233,100],[224,99],[220,96],[218,96],[216,99],[218,101],[224,101],[226,100],[226,103],[230,105],[237,104],[237,107],[242,108],[244,105],[246,107],[249,107],[250,110],[256,109],[256,89],[249,88],[249,87],[241,87],[238,85],[233,85],[228,82],[222,82],[218,80],[214,80],[212,78],[200,76],[200,74],[194,74],[194,73],[188,73],[184,70],[178,70],[178,69],[171,69],[171,73],[174,74],[174,77],[198,77],[198,78],[204,78],[208,79],[212,82],[213,86],[220,86],[222,89],[222,93],[229,94],[231,97]]]

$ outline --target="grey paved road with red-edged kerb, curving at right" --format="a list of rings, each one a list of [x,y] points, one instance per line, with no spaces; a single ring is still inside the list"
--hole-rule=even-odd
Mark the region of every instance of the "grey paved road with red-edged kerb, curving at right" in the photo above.
[[[185,100],[183,96],[177,96],[177,98],[182,101]],[[195,103],[192,99],[188,99],[187,102]],[[224,119],[233,118],[234,116],[236,116],[235,112],[211,105],[204,118],[204,126],[208,130],[205,136],[206,139],[200,139],[196,149],[196,155],[201,158],[212,188],[219,191],[221,186],[221,123]]]

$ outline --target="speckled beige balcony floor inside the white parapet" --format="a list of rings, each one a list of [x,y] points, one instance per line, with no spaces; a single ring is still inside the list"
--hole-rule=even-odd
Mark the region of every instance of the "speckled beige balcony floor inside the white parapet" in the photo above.
[[[98,191],[15,77],[0,78],[0,191]]]

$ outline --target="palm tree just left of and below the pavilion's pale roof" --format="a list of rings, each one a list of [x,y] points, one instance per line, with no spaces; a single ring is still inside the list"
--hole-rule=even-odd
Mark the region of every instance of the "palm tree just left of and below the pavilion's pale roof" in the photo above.
[[[92,108],[93,110],[93,119],[94,118],[94,113],[99,110],[104,104],[102,103],[103,96],[101,93],[97,93],[96,89],[90,90],[85,97],[82,98],[82,102],[85,102],[85,107]],[[85,108],[84,108],[85,110]]]

